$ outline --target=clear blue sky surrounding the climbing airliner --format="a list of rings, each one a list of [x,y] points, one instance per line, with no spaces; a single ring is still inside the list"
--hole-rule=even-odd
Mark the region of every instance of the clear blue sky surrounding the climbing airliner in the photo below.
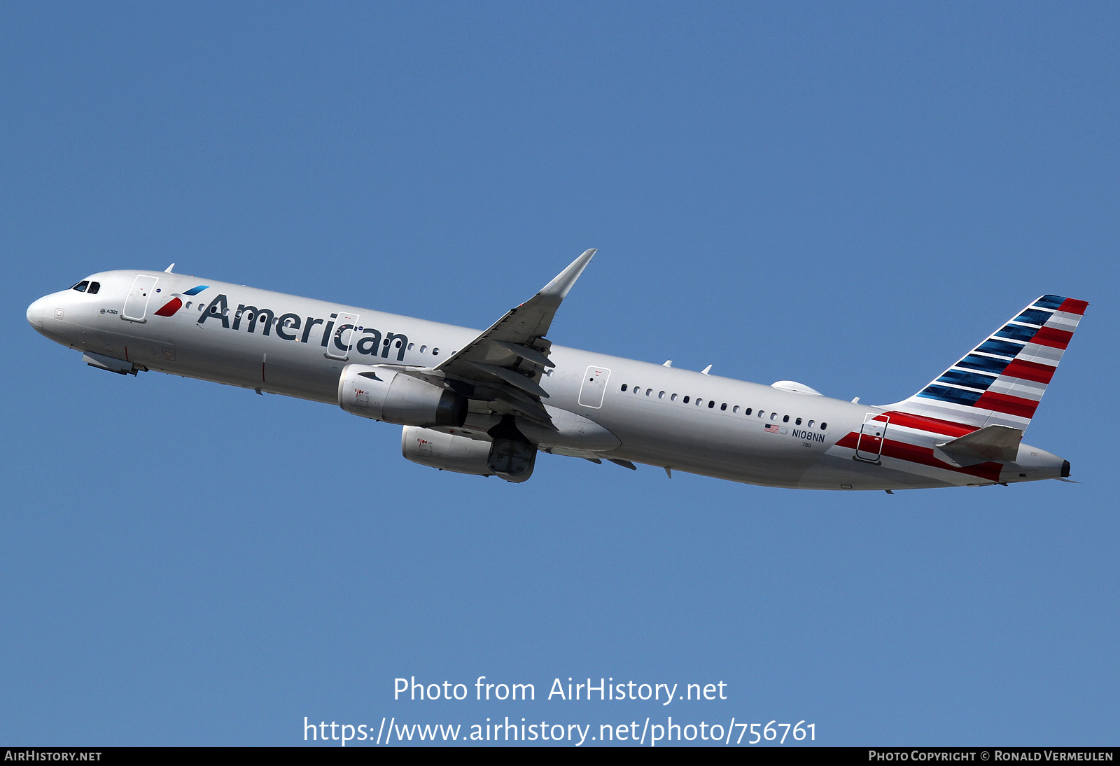
[[[0,740],[673,714],[1116,744],[1118,32],[1111,3],[0,7]],[[1089,300],[1027,435],[1082,484],[543,456],[507,485],[337,408],[95,371],[24,317],[174,261],[485,327],[586,247],[554,343],[872,403]],[[413,675],[539,699],[394,702]],[[728,699],[540,699],[568,676]]]

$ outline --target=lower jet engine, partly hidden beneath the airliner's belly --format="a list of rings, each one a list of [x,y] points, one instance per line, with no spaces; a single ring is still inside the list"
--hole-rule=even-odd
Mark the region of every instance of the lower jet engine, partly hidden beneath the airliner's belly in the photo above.
[[[475,476],[500,476],[521,483],[533,475],[536,447],[521,437],[498,435],[493,441],[452,436],[417,426],[401,431],[401,455],[421,466]]]

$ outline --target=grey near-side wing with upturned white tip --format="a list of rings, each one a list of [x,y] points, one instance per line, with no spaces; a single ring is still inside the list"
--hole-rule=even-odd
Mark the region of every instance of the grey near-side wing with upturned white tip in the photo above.
[[[540,292],[506,311],[489,329],[444,359],[435,372],[472,384],[470,399],[486,402],[493,412],[522,415],[551,427],[552,419],[541,403],[549,395],[540,385],[541,375],[554,366],[548,357],[552,344],[544,335],[592,255],[594,249],[586,251]]]

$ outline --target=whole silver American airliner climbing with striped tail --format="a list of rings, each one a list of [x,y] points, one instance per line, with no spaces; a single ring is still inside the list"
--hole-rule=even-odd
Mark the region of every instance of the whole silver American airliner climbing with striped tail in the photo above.
[[[423,466],[520,483],[540,452],[773,487],[887,491],[1070,480],[1023,442],[1088,303],[1045,295],[886,405],[554,346],[588,250],[488,329],[198,279],[104,271],[27,320],[122,375],[157,371],[337,404],[402,426]]]

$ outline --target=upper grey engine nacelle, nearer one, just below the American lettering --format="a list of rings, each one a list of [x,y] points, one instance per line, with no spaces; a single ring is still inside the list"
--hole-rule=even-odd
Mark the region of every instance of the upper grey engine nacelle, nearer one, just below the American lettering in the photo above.
[[[463,426],[461,394],[379,365],[348,364],[338,379],[338,405],[351,414],[400,426]]]

